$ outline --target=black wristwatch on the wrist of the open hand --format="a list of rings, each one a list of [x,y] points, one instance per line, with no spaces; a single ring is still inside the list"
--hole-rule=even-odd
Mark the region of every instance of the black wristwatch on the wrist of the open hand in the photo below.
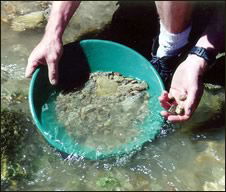
[[[210,65],[211,63],[214,62],[216,59],[216,53],[212,50],[207,50],[203,47],[196,47],[194,46],[190,51],[189,54],[195,54],[198,55],[199,57],[202,57],[203,59],[206,60],[207,64]]]

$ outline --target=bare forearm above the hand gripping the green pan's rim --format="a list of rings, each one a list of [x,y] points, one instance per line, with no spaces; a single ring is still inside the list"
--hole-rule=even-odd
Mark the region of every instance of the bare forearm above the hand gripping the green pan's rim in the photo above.
[[[54,1],[45,28],[45,35],[56,35],[56,37],[62,38],[64,30],[79,4],[79,1]]]

